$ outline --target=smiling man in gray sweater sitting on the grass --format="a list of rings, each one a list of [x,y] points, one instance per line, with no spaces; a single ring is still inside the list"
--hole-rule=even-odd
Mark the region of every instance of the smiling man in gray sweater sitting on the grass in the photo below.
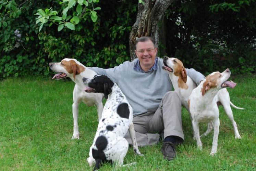
[[[136,40],[136,58],[109,69],[92,67],[96,73],[108,76],[118,84],[133,108],[133,123],[138,146],[159,142],[163,132],[161,152],[164,158],[174,159],[175,146],[183,143],[181,101],[172,90],[169,75],[162,69],[163,60],[157,55],[154,40],[141,37]],[[194,82],[205,77],[194,69],[186,69]],[[129,133],[125,139],[132,144]]]

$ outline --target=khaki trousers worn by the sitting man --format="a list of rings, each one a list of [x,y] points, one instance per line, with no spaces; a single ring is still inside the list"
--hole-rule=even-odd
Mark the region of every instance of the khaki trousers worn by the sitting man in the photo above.
[[[164,137],[175,135],[184,140],[181,121],[181,101],[174,91],[167,92],[155,113],[148,112],[133,116],[135,136],[138,146],[153,145],[159,142],[159,134]],[[132,145],[129,131],[124,138]]]

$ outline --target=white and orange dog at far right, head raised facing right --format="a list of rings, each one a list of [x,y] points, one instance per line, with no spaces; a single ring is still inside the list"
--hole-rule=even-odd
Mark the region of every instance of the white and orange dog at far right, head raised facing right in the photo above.
[[[236,83],[227,81],[230,77],[230,70],[226,69],[223,73],[214,72],[208,75],[198,87],[196,87],[188,99],[188,105],[192,116],[192,124],[196,137],[196,144],[202,149],[202,142],[199,136],[199,122],[210,122],[214,124],[214,137],[212,141],[211,155],[217,152],[218,135],[219,135],[219,109],[218,96],[219,90],[231,87],[234,88]]]

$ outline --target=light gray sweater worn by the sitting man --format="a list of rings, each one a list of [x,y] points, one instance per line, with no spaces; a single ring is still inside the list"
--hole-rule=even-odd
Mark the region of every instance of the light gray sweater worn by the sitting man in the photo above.
[[[108,76],[117,83],[133,108],[133,115],[155,112],[163,95],[172,90],[172,82],[166,71],[162,69],[163,60],[158,58],[158,69],[142,73],[134,70],[138,58],[132,62],[126,61],[109,69],[92,67],[100,75]],[[187,75],[197,83],[205,77],[194,69],[186,69]]]

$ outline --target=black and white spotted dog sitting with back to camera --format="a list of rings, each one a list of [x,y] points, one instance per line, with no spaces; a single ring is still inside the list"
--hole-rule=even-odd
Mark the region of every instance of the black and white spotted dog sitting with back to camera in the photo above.
[[[103,93],[107,102],[103,108],[98,129],[90,147],[87,161],[89,166],[99,169],[101,162],[112,161],[115,165],[123,165],[129,144],[124,135],[129,130],[134,152],[139,152],[135,138],[133,110],[120,88],[107,76],[96,75],[93,79],[83,78],[86,92]]]

